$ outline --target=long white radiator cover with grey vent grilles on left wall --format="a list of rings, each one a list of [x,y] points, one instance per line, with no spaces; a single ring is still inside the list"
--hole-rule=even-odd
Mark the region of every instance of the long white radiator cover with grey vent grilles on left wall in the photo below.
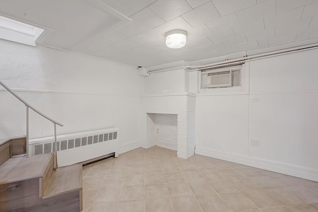
[[[60,167],[114,153],[118,157],[119,129],[107,128],[57,136]],[[54,152],[54,136],[29,140],[30,155]]]

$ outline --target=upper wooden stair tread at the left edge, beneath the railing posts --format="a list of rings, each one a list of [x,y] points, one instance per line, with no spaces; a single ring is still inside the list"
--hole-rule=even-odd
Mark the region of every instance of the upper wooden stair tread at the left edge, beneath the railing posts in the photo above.
[[[53,153],[9,158],[0,166],[0,185],[43,177]]]

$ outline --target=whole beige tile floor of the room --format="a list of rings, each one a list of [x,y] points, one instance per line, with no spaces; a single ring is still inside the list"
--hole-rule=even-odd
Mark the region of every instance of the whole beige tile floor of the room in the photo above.
[[[318,183],[161,147],[83,167],[84,212],[318,212]]]

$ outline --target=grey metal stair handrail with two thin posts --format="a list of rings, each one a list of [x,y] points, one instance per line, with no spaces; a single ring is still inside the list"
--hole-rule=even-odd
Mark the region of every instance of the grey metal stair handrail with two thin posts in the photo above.
[[[57,139],[56,139],[56,125],[63,126],[63,124],[54,120],[53,118],[50,118],[49,116],[45,115],[41,111],[37,110],[35,107],[28,104],[19,95],[17,95],[14,91],[12,91],[9,87],[7,87],[3,82],[0,81],[0,85],[26,106],[26,157],[30,156],[29,155],[29,108],[54,123],[54,143],[55,143],[54,156],[55,156],[55,170],[57,171],[59,169],[59,166],[58,166],[58,154],[57,154],[58,149],[57,149]]]

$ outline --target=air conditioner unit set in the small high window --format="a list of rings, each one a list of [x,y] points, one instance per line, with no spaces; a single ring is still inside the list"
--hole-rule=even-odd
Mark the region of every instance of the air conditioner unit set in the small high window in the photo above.
[[[232,87],[232,72],[208,73],[206,88]]]

